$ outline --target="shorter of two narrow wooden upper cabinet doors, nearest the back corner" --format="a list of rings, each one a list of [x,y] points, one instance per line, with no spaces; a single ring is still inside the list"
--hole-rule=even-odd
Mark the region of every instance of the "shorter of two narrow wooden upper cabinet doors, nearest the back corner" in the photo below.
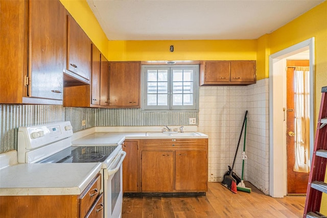
[[[109,103],[109,62],[101,55],[100,70],[100,105],[108,106]]]

